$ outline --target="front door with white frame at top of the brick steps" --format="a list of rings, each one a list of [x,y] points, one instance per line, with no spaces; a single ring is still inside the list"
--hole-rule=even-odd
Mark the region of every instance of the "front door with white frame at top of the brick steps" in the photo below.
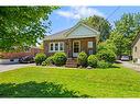
[[[77,57],[79,51],[80,51],[80,42],[74,41],[73,42],[73,57]]]

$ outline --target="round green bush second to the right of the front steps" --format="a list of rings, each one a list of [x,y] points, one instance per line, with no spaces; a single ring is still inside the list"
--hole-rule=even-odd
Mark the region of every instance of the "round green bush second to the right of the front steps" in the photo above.
[[[87,58],[87,63],[88,63],[88,66],[90,66],[90,67],[96,68],[96,67],[97,67],[97,62],[98,62],[98,58],[96,57],[96,55],[90,55],[90,56]]]

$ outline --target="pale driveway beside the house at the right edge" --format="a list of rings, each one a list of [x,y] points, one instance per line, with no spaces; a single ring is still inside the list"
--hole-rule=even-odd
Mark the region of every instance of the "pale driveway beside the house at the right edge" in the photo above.
[[[140,65],[131,63],[130,61],[120,61],[121,65],[126,68],[133,69],[136,71],[140,71]]]

